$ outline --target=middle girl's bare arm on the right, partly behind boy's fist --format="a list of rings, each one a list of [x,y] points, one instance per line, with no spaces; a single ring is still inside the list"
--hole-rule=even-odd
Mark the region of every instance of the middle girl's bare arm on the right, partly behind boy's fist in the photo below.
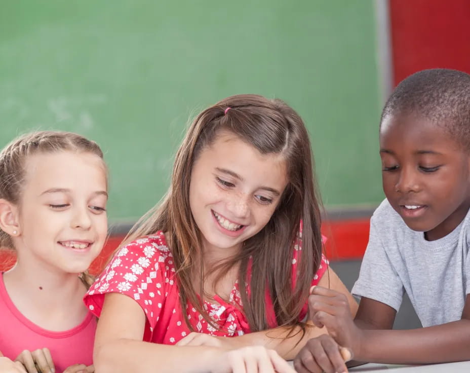
[[[349,307],[351,310],[351,317],[356,315],[358,310],[358,304],[354,297],[349,293],[346,286],[341,282],[338,275],[330,268],[328,272],[320,279],[319,286],[329,287],[332,290],[338,291],[344,294],[347,297]],[[211,337],[210,335],[201,334],[201,333],[191,333],[199,334],[195,337],[191,334],[188,337],[191,340],[187,345],[211,345],[210,340],[217,339],[219,346],[226,347],[229,349],[240,348],[244,346],[252,345],[261,345],[269,349],[275,350],[281,357],[286,360],[292,360],[300,351],[300,349],[305,345],[305,343],[311,339],[318,337],[321,334],[328,332],[326,328],[318,328],[310,321],[308,322],[310,327],[307,327],[305,334],[302,337],[302,330],[300,327],[295,327],[293,332],[290,327],[278,327],[274,329],[268,329],[263,331],[257,331],[253,333],[247,333],[240,335],[239,337]],[[291,331],[290,336],[289,332]],[[198,339],[199,341],[195,340]],[[216,345],[216,344],[213,344]]]

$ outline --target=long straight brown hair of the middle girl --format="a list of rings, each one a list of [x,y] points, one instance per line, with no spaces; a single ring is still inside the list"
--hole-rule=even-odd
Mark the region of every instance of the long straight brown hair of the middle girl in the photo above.
[[[227,108],[230,108],[225,112]],[[166,233],[176,267],[182,309],[189,301],[209,319],[194,291],[195,268],[200,268],[200,294],[207,273],[202,263],[201,233],[189,207],[189,180],[194,161],[221,130],[228,130],[254,146],[261,154],[280,154],[287,165],[288,184],[266,226],[247,239],[241,252],[228,259],[226,269],[240,263],[239,285],[243,311],[252,331],[268,328],[265,292],[268,291],[279,326],[304,324],[298,316],[322,254],[320,198],[314,180],[307,130],[297,113],[279,99],[237,95],[205,109],[190,125],[176,154],[171,186],[164,199],[134,226],[124,243],[158,230]],[[294,242],[303,222],[302,249],[292,279]],[[252,258],[250,294],[245,281]],[[221,266],[218,266],[220,269]],[[212,272],[212,271],[210,271]],[[223,272],[223,271],[221,271]],[[218,277],[220,278],[220,276]],[[193,330],[187,320],[188,327]]]

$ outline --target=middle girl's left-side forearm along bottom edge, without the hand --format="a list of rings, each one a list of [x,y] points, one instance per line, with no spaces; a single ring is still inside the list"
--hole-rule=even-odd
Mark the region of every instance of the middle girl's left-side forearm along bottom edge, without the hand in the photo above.
[[[206,346],[170,346],[134,340],[115,340],[94,353],[99,373],[146,371],[198,373],[211,371],[211,362],[224,351]]]

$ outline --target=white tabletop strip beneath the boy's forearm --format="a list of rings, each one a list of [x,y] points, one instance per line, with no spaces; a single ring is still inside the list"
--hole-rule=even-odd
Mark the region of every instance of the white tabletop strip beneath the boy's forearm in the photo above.
[[[430,365],[389,365],[368,363],[349,368],[353,372],[382,372],[382,373],[460,373],[470,372],[470,361]]]

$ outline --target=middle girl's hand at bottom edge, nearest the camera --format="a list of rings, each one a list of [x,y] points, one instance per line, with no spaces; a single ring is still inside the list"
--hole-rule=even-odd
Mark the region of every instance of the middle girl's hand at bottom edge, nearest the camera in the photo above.
[[[227,351],[214,361],[211,373],[295,373],[274,350],[248,346]]]

